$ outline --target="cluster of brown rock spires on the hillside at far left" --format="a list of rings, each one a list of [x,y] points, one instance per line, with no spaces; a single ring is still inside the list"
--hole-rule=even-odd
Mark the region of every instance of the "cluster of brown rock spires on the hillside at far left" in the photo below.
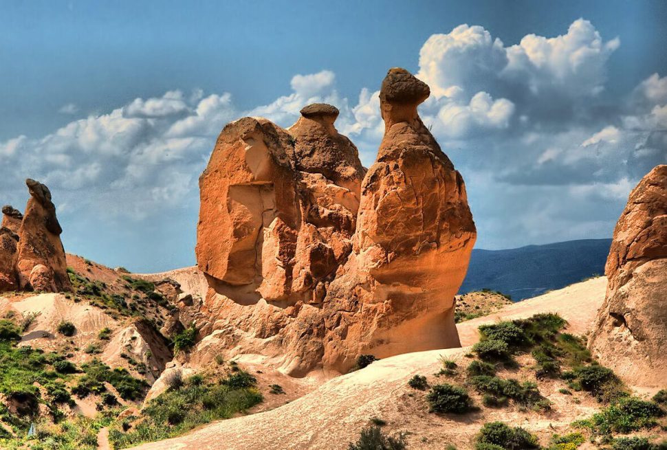
[[[69,291],[63,232],[49,189],[37,181],[25,181],[30,200],[25,216],[7,205],[0,228],[0,291]]]

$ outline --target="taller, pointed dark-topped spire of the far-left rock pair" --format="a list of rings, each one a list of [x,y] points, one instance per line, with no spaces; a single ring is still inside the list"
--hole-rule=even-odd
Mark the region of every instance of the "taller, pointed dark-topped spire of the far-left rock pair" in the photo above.
[[[51,192],[42,183],[25,181],[30,199],[19,228],[17,246],[17,272],[21,289],[32,287],[31,280],[39,280],[39,289],[45,291],[71,291],[72,284],[67,275],[65,249],[60,234],[63,232]],[[46,270],[38,269],[42,265]],[[50,278],[47,280],[46,278]],[[37,289],[37,288],[36,288]]]

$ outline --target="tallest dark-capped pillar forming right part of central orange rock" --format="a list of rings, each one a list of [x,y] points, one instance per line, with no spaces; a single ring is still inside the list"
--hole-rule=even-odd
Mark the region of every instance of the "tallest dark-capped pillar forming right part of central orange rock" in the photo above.
[[[454,296],[477,232],[463,179],[417,114],[428,87],[404,69],[382,82],[386,132],[362,183],[357,223],[360,267],[397,324],[378,351],[395,354],[459,345]],[[409,112],[409,113],[408,113]]]

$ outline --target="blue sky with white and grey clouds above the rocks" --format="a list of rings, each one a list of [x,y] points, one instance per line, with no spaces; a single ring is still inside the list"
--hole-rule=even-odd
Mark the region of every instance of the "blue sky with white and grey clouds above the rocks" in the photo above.
[[[639,177],[667,163],[661,1],[0,10],[0,203],[22,209],[22,180],[44,181],[67,251],[111,266],[193,264],[197,177],[240,115],[289,126],[327,100],[372,164],[393,66],[432,88],[420,111],[466,179],[478,247],[609,237]]]

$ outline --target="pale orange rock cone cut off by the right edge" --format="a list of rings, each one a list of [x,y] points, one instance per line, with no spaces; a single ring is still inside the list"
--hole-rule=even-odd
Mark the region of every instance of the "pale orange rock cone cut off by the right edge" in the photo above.
[[[606,261],[589,348],[634,385],[667,385],[667,166],[631,192]]]

